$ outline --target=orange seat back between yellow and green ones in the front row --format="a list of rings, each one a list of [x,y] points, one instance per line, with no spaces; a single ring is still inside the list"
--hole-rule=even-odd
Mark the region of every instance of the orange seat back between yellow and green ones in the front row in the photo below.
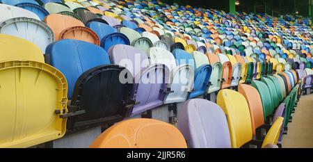
[[[264,124],[264,113],[261,97],[259,96],[257,89],[248,84],[240,84],[238,86],[238,92],[240,92],[248,102],[251,116],[252,134],[255,135],[255,129],[261,127]]]

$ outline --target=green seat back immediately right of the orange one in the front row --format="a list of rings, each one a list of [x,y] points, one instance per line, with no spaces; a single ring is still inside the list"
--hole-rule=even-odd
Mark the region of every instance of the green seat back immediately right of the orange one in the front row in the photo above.
[[[273,114],[273,104],[271,100],[271,94],[268,90],[268,86],[262,81],[252,81],[251,86],[257,89],[259,95],[262,99],[263,113],[264,113],[264,121],[266,122],[266,118]]]

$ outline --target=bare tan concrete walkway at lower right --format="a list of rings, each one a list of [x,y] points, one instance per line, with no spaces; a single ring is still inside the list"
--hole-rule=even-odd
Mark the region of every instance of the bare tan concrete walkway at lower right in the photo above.
[[[313,148],[313,95],[301,96],[288,134],[282,137],[282,147]]]

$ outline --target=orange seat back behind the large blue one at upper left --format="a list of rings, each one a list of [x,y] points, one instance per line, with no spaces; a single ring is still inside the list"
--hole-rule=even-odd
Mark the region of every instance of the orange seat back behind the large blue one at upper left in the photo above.
[[[45,17],[44,22],[54,31],[55,40],[61,40],[61,32],[74,26],[85,26],[83,22],[60,14],[51,14]]]

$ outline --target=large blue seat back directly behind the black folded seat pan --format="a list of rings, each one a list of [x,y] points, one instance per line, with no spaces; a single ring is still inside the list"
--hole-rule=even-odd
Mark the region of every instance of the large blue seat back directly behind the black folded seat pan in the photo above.
[[[69,99],[72,99],[75,83],[83,72],[99,65],[110,64],[104,49],[81,40],[59,40],[49,44],[46,54],[50,58],[50,64],[65,75]]]

